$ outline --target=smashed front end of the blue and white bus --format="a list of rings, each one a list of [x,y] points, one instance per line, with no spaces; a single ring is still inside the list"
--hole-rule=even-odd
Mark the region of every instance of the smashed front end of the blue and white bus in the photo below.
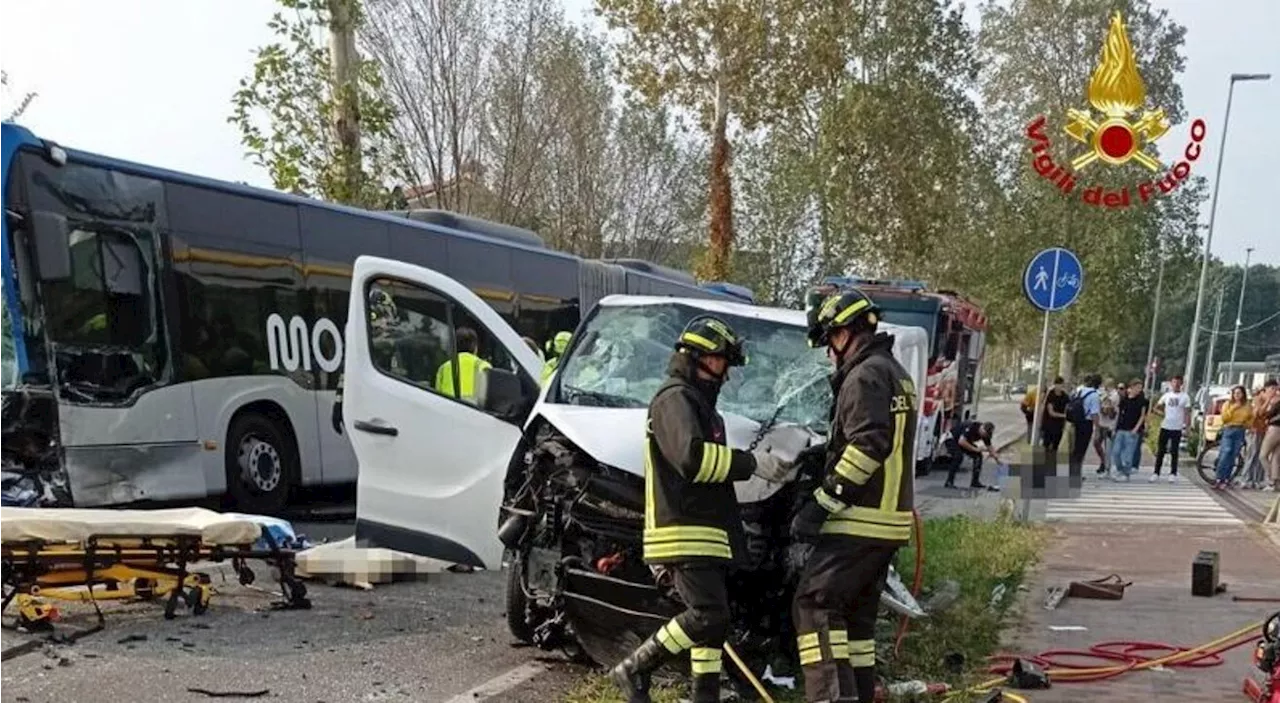
[[[69,166],[61,147],[0,124],[0,505],[119,502],[111,462],[72,467],[86,444],[76,435],[125,434],[99,408],[132,405],[172,366],[157,306],[163,192]],[[174,415],[189,412],[151,424]]]

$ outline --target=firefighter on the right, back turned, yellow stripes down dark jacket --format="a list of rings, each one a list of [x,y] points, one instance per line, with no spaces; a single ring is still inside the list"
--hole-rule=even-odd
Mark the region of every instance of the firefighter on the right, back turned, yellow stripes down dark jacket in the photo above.
[[[813,543],[794,618],[805,698],[870,703],[876,613],[890,562],[911,538],[915,384],[877,333],[879,310],[860,291],[810,311],[809,339],[836,365],[835,411],[822,485],[792,519]]]

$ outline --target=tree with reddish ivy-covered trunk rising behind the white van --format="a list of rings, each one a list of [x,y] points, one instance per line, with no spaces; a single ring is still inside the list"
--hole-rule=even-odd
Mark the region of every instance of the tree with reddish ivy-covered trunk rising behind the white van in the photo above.
[[[726,279],[733,247],[731,122],[769,124],[804,96],[808,79],[842,56],[824,19],[838,15],[800,0],[596,0],[622,36],[620,74],[650,104],[694,113],[710,136],[709,236],[704,278]],[[837,8],[837,5],[831,5]]]

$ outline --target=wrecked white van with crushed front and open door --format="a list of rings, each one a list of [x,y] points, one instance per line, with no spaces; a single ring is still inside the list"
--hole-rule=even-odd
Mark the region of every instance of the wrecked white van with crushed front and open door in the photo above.
[[[476,353],[489,366],[474,402],[375,359],[379,332],[366,310],[374,288],[389,292],[401,318],[445,350],[458,320],[484,328],[492,342]],[[506,554],[507,617],[517,638],[602,663],[621,658],[682,610],[671,584],[640,557],[644,424],[673,341],[704,312],[746,339],[748,364],[733,370],[718,402],[728,443],[749,448],[768,432],[822,442],[831,366],[806,343],[804,311],[609,296],[584,318],[539,389],[536,356],[474,293],[428,269],[358,259],[344,411],[360,461],[357,540],[485,569],[498,569]],[[924,330],[883,327],[923,387]],[[814,455],[787,484],[736,484],[749,553],[732,576],[731,642],[745,656],[790,649],[782,606],[796,578],[790,517],[820,470]]]

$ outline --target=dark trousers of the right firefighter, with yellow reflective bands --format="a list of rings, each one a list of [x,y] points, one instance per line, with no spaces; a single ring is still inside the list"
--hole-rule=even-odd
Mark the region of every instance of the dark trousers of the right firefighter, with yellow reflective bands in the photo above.
[[[849,537],[822,537],[814,545],[792,613],[805,700],[874,700],[876,615],[896,552]]]

